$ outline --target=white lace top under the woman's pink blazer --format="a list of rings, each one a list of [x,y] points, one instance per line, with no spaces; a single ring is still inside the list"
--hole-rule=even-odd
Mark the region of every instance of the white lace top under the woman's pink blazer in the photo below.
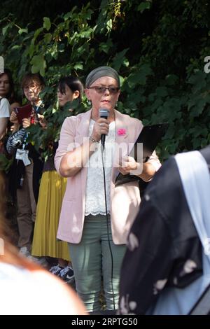
[[[90,120],[89,136],[92,134],[94,120]],[[110,213],[110,185],[111,170],[113,167],[113,152],[116,141],[116,123],[113,121],[109,125],[109,134],[106,136],[104,150],[104,167],[106,176],[106,200],[107,210]],[[104,174],[102,167],[101,142],[97,143],[96,151],[91,155],[87,167],[87,186],[85,216],[87,215],[105,215],[104,199]]]

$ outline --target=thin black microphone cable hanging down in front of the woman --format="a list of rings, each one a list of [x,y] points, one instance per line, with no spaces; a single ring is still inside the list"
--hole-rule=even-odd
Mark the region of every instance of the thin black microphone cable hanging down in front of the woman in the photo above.
[[[111,254],[111,290],[113,295],[113,309],[116,311],[116,302],[115,302],[115,295],[113,290],[113,253],[111,251],[111,241],[109,238],[109,218],[108,218],[108,210],[107,210],[107,199],[106,199],[106,175],[105,175],[105,167],[104,167],[104,147],[101,144],[101,153],[102,153],[102,167],[103,167],[103,176],[104,176],[104,200],[105,200],[105,209],[106,209],[106,228],[107,228],[107,235],[108,235],[108,244],[109,244],[109,251]]]

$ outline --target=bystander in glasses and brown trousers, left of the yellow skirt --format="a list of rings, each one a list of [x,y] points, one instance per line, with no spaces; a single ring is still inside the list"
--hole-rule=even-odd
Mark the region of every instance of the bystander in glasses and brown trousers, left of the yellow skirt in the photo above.
[[[33,106],[34,114],[33,118],[24,118],[22,120],[22,125],[20,125],[13,111],[10,115],[10,121],[14,125],[14,132],[22,127],[29,127],[32,119],[35,124],[40,124],[41,127],[45,127],[42,115],[43,102],[39,97],[39,93],[43,87],[43,78],[38,73],[27,73],[22,78],[22,90],[28,102]],[[38,118],[38,120],[34,120],[34,117]],[[26,165],[18,153],[19,149],[29,152],[27,154]],[[34,146],[27,143],[27,132],[25,134],[25,140],[18,150],[16,151],[15,160],[13,162],[13,174],[11,175],[13,188],[17,190],[18,246],[20,248],[20,253],[30,256],[43,160],[41,160],[41,154],[36,151]]]

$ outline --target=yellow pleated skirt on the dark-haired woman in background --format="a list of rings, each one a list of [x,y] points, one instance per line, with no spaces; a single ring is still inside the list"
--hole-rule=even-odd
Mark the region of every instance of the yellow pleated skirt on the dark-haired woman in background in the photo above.
[[[67,243],[56,239],[65,190],[64,177],[59,176],[55,170],[43,172],[36,208],[32,255],[70,260]]]

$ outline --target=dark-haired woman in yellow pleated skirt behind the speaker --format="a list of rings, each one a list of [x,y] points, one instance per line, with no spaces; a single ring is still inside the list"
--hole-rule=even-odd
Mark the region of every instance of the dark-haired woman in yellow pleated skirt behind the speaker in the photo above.
[[[59,106],[64,106],[73,99],[80,99],[83,85],[78,78],[66,76],[59,80],[57,99]],[[54,144],[56,151],[57,143]],[[50,268],[50,272],[60,276],[66,283],[73,279],[73,269],[66,242],[56,239],[62,199],[66,190],[66,179],[57,174],[54,156],[48,158],[43,167],[43,175],[38,195],[36,222],[32,255],[58,258],[58,263]]]

